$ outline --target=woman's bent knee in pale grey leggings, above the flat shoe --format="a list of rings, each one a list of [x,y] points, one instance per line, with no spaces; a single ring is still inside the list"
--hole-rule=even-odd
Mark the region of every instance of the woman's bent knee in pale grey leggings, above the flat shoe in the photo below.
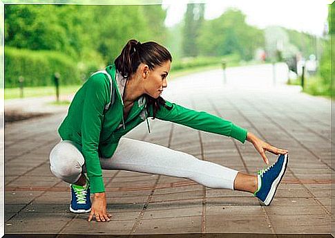
[[[63,140],[50,152],[50,170],[57,178],[75,183],[82,174],[84,156],[69,140]]]

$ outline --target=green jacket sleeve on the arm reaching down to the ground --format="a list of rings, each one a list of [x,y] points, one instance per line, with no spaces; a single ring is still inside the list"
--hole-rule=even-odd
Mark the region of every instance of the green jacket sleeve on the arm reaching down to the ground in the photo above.
[[[100,165],[98,146],[104,107],[108,102],[108,84],[104,75],[94,75],[86,82],[86,95],[83,105],[82,154],[85,158],[90,190],[104,192],[104,181]]]

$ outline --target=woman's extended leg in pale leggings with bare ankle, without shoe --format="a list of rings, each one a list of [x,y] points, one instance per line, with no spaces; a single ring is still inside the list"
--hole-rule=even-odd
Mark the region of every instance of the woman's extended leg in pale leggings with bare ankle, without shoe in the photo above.
[[[111,158],[100,158],[100,163],[104,170],[129,170],[189,178],[211,188],[255,192],[257,187],[256,175],[241,173],[184,152],[130,138],[122,138],[115,154]]]

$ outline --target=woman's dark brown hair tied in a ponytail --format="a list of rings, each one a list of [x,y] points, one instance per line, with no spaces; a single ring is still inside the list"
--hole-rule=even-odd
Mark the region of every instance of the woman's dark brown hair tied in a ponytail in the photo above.
[[[162,66],[167,61],[172,62],[172,56],[164,46],[156,42],[144,42],[141,44],[141,42],[131,39],[124,46],[121,54],[115,59],[114,64],[117,71],[123,77],[128,78],[137,71],[137,67],[141,63],[147,64],[153,70],[155,66]],[[169,110],[172,108],[166,105],[162,97],[152,98],[150,95],[146,95],[146,100],[149,106],[153,106],[153,119],[155,119],[156,112],[161,106]]]

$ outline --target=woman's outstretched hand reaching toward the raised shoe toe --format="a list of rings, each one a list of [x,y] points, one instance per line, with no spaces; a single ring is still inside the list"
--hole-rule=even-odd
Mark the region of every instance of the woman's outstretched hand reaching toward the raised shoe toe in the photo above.
[[[287,154],[289,152],[287,149],[278,149],[272,145],[269,145],[268,143],[265,143],[251,132],[248,132],[247,140],[253,144],[253,146],[260,153],[264,162],[267,165],[269,165],[269,159],[267,158],[267,156],[265,156],[266,151],[271,152],[273,154]]]

